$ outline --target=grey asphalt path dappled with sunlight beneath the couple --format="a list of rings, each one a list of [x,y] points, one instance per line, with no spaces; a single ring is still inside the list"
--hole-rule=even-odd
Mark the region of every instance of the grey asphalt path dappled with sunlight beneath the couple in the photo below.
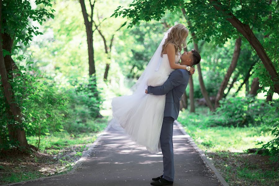
[[[109,127],[73,173],[15,185],[148,186],[152,177],[163,174],[162,153],[151,154],[132,144],[121,131]],[[191,138],[179,130],[177,123],[173,127],[173,148],[173,186],[223,185],[194,148]]]

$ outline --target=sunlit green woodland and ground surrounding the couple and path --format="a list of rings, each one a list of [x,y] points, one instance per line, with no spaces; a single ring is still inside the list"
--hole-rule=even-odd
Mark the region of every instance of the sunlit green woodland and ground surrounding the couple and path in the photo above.
[[[279,184],[278,1],[1,2],[0,183],[69,171],[182,23],[178,121],[229,184]]]

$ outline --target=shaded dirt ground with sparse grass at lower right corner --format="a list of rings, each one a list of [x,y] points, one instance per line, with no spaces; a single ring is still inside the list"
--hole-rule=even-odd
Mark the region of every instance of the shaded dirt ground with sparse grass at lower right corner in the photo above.
[[[246,153],[206,153],[229,185],[277,186],[279,162]]]

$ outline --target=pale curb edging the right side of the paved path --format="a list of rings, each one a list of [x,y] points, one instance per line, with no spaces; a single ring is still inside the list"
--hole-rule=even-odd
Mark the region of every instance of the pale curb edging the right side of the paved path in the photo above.
[[[207,159],[207,157],[205,156],[205,153],[196,145],[196,143],[194,142],[194,140],[191,138],[191,136],[189,134],[187,134],[187,132],[184,130],[183,126],[181,125],[181,123],[179,123],[177,120],[174,121],[174,123],[178,126],[179,130],[182,132],[183,135],[186,136],[186,138],[189,139],[190,144],[199,152],[200,157],[204,160],[204,162],[206,163],[206,165],[208,167],[210,167],[210,169],[214,172],[214,174],[217,176],[217,178],[220,180],[221,184],[223,184],[223,186],[229,186],[229,184],[226,182],[226,180],[223,178],[223,176],[220,174],[220,172],[215,168],[215,166],[209,161],[209,159]]]

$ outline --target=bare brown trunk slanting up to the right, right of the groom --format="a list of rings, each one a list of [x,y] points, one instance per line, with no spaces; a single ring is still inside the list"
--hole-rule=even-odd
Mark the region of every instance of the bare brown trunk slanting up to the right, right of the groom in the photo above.
[[[232,62],[227,70],[227,74],[225,75],[225,78],[223,79],[220,88],[218,90],[218,93],[216,95],[216,100],[215,100],[215,108],[219,107],[219,101],[223,98],[224,95],[224,91],[227,87],[228,81],[234,71],[234,69],[236,68],[236,63],[240,54],[240,46],[241,46],[241,38],[237,38],[236,39],[236,44],[235,44],[235,48],[233,51],[233,55],[232,55]]]

